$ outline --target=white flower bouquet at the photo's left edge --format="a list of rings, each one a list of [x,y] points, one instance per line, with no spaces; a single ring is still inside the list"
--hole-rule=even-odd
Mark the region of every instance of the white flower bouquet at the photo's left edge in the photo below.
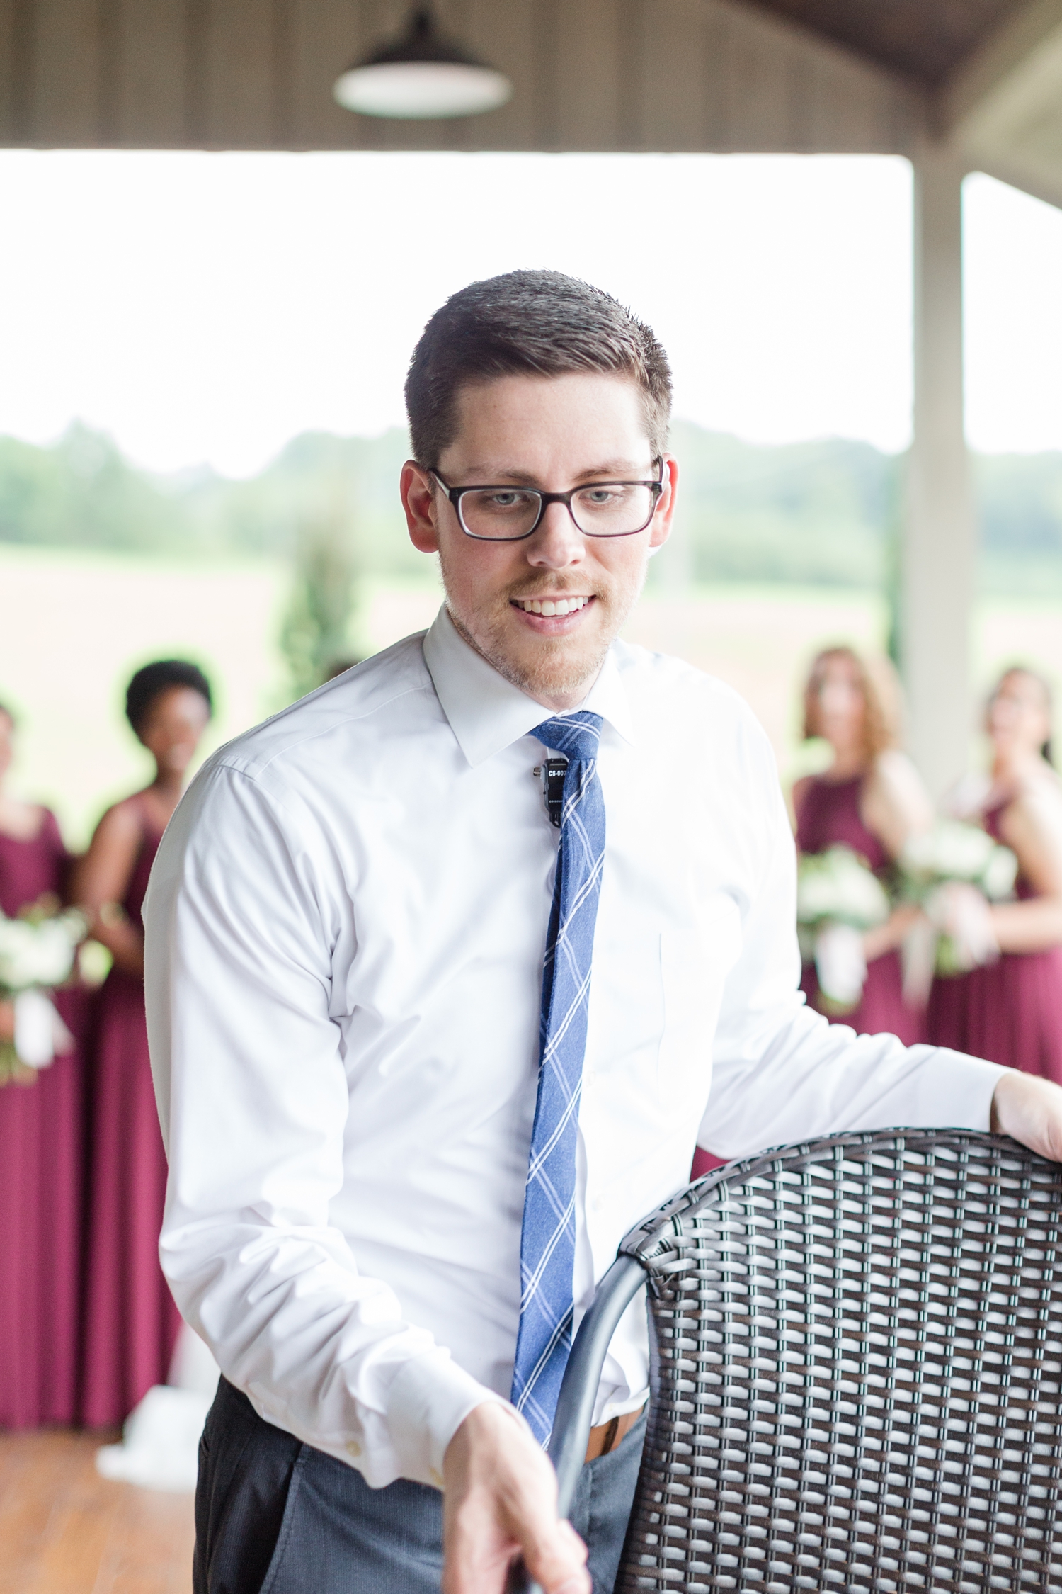
[[[33,1081],[72,1036],[48,993],[73,969],[88,920],[41,899],[18,918],[0,913],[0,998],[14,1004],[14,1036],[0,1041],[0,1086]]]

